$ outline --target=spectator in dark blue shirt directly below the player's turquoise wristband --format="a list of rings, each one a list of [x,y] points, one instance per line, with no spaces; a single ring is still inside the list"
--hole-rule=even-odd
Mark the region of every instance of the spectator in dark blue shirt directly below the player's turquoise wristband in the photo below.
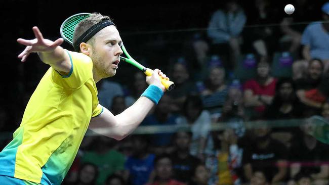
[[[149,114],[141,125],[150,126],[150,125],[162,125],[162,126],[173,126],[176,125],[177,115],[173,114],[170,105],[172,99],[167,94],[164,94],[155,107],[155,110],[152,114]],[[150,152],[153,154],[162,154],[169,153],[173,150],[171,146],[171,139],[173,133],[166,132],[155,133],[150,135]]]

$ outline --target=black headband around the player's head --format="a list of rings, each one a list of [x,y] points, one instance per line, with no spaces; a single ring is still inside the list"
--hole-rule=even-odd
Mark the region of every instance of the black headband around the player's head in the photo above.
[[[76,52],[80,51],[80,43],[81,42],[87,42],[91,37],[93,37],[97,32],[99,32],[101,29],[105,28],[106,26],[111,26],[115,24],[107,19],[104,19],[100,21],[97,24],[94,24],[92,27],[90,27],[85,33],[83,33],[79,38],[73,42],[73,48]]]

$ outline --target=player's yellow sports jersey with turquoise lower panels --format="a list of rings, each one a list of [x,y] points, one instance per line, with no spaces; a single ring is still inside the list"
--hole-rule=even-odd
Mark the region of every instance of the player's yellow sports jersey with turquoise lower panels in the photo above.
[[[66,51],[71,71],[52,67],[40,80],[14,139],[0,153],[0,175],[42,184],[60,184],[69,170],[90,119],[102,113],[92,60]]]

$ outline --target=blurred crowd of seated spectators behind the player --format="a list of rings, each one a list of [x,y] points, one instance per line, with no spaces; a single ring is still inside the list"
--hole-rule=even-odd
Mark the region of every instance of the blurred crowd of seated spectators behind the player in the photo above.
[[[307,127],[310,117],[329,121],[329,2],[293,1],[291,16],[273,4],[222,1],[169,62],[137,57],[175,82],[141,126],[175,131],[86,136],[63,184],[329,184],[328,146]],[[147,88],[142,72],[131,74],[97,84],[114,115]],[[0,117],[6,130],[3,107]]]

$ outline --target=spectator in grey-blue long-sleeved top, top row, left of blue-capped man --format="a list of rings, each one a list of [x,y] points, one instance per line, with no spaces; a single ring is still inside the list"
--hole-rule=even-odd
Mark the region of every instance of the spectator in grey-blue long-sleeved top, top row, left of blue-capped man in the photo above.
[[[234,68],[240,55],[241,32],[246,22],[246,16],[238,1],[226,0],[223,9],[213,13],[208,26],[208,37],[212,41],[212,54],[229,54],[228,65]]]

